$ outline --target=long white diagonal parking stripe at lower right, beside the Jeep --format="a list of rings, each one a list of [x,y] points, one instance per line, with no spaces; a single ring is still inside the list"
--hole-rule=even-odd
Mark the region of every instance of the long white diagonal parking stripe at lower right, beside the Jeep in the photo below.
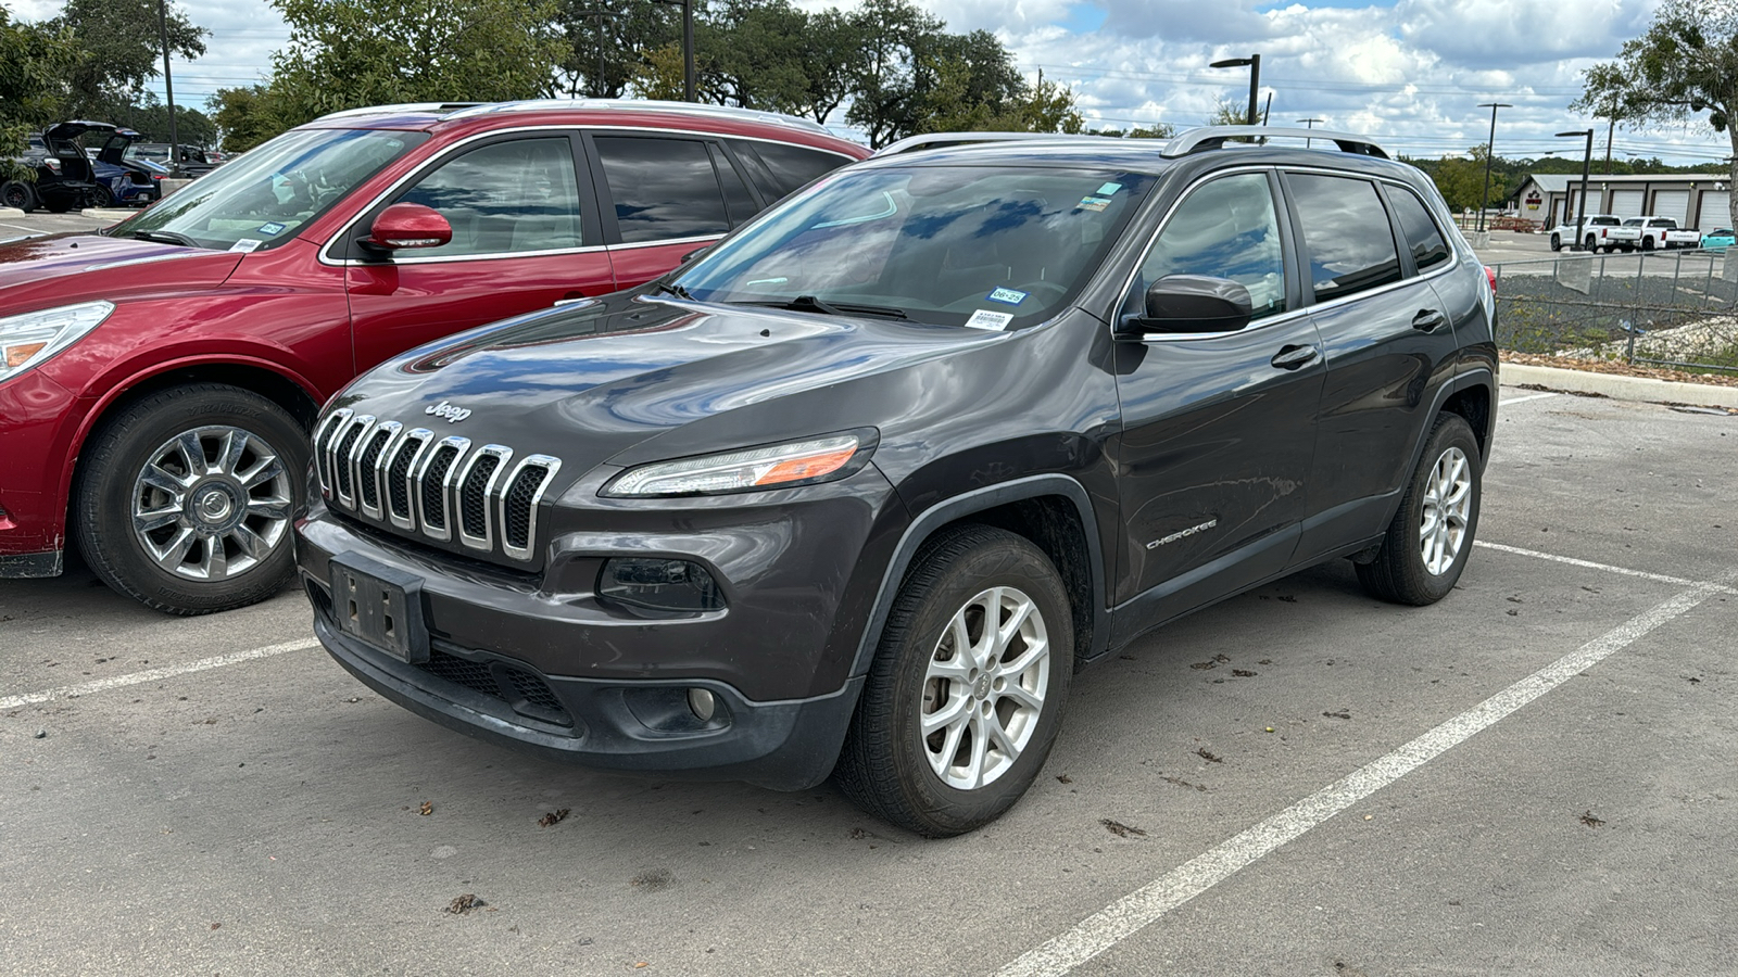
[[[1338,782],[1130,892],[1006,965],[998,972],[998,977],[1060,977],[1069,974],[1264,855],[1423,767],[1474,734],[1502,721],[1575,675],[1627,648],[1655,628],[1688,614],[1702,601],[1728,589],[1724,581],[1731,579],[1738,579],[1738,572],[1726,574],[1717,584],[1695,584],[1665,603],[1618,624],[1394,753],[1354,770]]]

